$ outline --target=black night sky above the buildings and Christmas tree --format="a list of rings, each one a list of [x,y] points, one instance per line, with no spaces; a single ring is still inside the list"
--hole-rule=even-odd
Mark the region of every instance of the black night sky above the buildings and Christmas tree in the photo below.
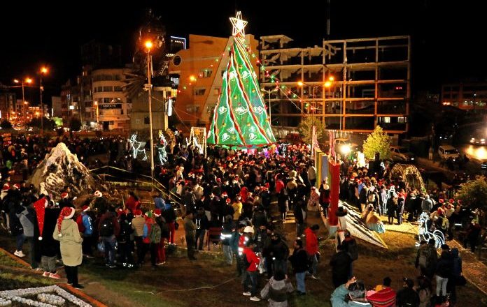
[[[477,1],[331,1],[331,38],[412,36],[414,91],[438,90],[442,82],[486,80],[482,45],[487,26]],[[15,77],[34,76],[46,63],[51,70],[43,82],[46,96],[59,95],[61,84],[80,73],[80,45],[92,39],[122,45],[129,62],[147,8],[174,36],[230,36],[228,17],[236,9],[248,21],[246,33],[257,38],[285,34],[307,47],[320,45],[326,31],[327,0],[124,2],[9,1],[0,17],[0,82],[10,85]]]

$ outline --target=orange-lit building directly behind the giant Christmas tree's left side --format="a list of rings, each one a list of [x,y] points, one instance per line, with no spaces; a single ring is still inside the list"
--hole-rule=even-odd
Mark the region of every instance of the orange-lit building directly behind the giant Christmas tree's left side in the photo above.
[[[246,35],[247,45],[257,50],[253,35]],[[171,81],[178,85],[174,113],[186,127],[209,126],[218,102],[223,72],[233,44],[230,38],[190,35],[190,47],[176,52],[169,63]],[[257,72],[257,63],[254,70]]]

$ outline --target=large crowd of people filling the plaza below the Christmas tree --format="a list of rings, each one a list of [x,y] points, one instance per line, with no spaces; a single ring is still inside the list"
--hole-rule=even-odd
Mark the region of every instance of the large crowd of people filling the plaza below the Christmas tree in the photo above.
[[[13,139],[7,144],[2,141],[4,165],[11,160],[22,160],[17,149],[28,165],[40,160],[48,146],[37,141],[15,139],[13,151],[7,146]],[[54,146],[55,142],[47,143]],[[130,156],[127,144],[118,138],[73,141],[69,149],[82,160],[87,160],[90,154],[107,153],[108,161],[118,165]],[[251,301],[262,298],[268,299],[270,306],[286,306],[287,293],[293,291],[290,271],[295,278],[296,293],[306,294],[306,276],[319,278],[319,241],[323,239],[318,237],[319,225],[306,227],[307,220],[309,216],[330,214],[330,186],[325,180],[316,188],[316,168],[309,147],[280,144],[259,152],[215,147],[209,148],[205,158],[197,147],[176,142],[168,145],[167,158],[167,164],[158,165],[155,174],[178,195],[177,202],[164,200],[157,194],[153,195],[150,207],[142,206],[134,193],[124,204],[113,204],[97,190],[76,210],[67,187],[62,199],[56,201],[48,195],[39,195],[33,186],[10,184],[8,176],[4,177],[1,211],[4,227],[16,240],[14,254],[24,257],[23,244],[29,241],[32,269],[43,270],[45,277],[60,278],[57,262],[62,260],[69,283],[82,288],[77,268],[83,256],[94,257],[94,250],[104,255],[108,269],[141,267],[147,253],[150,253],[152,269],[163,265],[168,248],[176,245],[177,216],[181,215],[188,259],[197,260],[205,237],[206,244],[221,242],[225,262],[235,263],[242,294]],[[123,165],[127,169],[127,163]],[[460,202],[445,201],[446,195],[441,191],[427,195],[407,189],[401,177],[391,178],[387,170],[374,172],[373,169],[356,160],[341,163],[340,197],[362,212],[362,220],[369,229],[384,232],[383,215],[388,216],[388,223],[396,219],[401,224],[405,214],[407,220],[413,221],[428,212],[431,220],[428,227],[438,228],[451,237],[456,224],[473,225],[469,226],[467,243],[474,250],[480,233],[478,223],[467,221]],[[271,216],[274,200],[278,218]],[[290,211],[296,223],[292,253],[280,227]],[[367,292],[363,283],[353,277],[358,244],[346,229],[347,211],[339,207],[335,214],[339,232],[336,253],[330,258],[332,283],[336,287],[332,306],[432,306],[428,302],[433,293],[433,276],[437,285],[435,304],[444,303],[447,293],[449,300],[455,301],[455,280],[461,279],[461,260],[458,275],[460,258],[454,248],[445,250],[439,260],[432,259],[432,248],[428,249],[428,260],[418,251],[416,266],[420,267],[422,276],[416,283],[405,279],[404,287],[397,293],[390,287],[390,278]],[[421,246],[419,250],[423,253],[427,248]],[[259,292],[261,276],[267,283]],[[449,284],[448,280],[453,281]],[[378,303],[383,299],[387,304]],[[354,301],[360,304],[353,304]]]

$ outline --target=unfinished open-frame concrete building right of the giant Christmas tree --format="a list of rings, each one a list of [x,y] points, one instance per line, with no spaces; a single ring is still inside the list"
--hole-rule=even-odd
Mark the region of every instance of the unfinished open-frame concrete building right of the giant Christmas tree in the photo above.
[[[284,35],[262,36],[262,93],[273,126],[297,126],[316,117],[330,129],[388,133],[408,130],[409,36],[323,40],[292,47]],[[276,87],[278,81],[278,88]]]

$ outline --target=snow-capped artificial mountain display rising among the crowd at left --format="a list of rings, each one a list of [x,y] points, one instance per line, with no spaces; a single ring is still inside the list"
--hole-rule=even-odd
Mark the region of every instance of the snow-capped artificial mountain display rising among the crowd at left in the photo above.
[[[69,186],[73,195],[84,191],[91,193],[94,188],[94,178],[90,171],[64,143],[57,144],[45,156],[34,171],[30,183],[34,184],[39,193],[52,194],[54,197],[64,192],[64,186]]]

